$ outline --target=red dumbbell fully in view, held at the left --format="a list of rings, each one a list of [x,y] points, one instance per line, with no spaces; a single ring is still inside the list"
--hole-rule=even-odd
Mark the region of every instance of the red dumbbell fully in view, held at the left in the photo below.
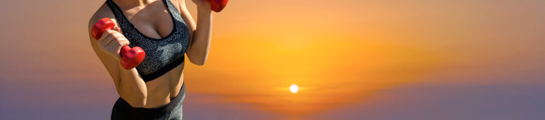
[[[116,26],[116,24],[114,24],[110,18],[102,18],[95,23],[93,28],[91,28],[91,36],[96,40],[99,40],[106,30],[113,29],[114,26]],[[142,62],[144,56],[146,56],[146,53],[144,53],[144,50],[140,47],[131,48],[129,46],[123,46],[120,53],[122,56],[121,66],[126,70],[140,65],[140,62]]]

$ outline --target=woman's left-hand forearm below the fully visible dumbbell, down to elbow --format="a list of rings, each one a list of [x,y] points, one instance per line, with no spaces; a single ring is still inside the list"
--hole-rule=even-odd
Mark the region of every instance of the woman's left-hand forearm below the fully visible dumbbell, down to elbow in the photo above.
[[[136,68],[125,70],[119,65],[119,86],[117,92],[132,107],[141,108],[146,105],[148,95],[146,83],[140,78]]]

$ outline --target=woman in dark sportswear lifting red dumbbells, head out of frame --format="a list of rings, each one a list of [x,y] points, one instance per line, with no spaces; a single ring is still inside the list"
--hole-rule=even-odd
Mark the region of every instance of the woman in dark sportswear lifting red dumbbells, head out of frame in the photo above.
[[[120,98],[112,119],[181,119],[185,97],[184,53],[203,65],[210,49],[210,2],[197,4],[197,23],[184,0],[107,0],[90,18],[89,30],[101,18],[116,27],[90,43],[113,79]],[[120,66],[119,49],[141,47],[146,57],[130,70]]]

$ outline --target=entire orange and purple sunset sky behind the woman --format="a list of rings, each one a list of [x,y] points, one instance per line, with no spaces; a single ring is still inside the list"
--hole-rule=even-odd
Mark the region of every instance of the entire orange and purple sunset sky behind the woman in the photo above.
[[[102,3],[0,1],[0,118],[110,117]],[[184,119],[544,119],[544,5],[232,0],[185,65]]]

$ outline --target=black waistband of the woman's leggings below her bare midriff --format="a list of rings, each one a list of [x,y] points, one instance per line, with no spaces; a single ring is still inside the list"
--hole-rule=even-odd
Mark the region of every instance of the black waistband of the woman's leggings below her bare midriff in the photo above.
[[[133,108],[129,103],[127,103],[125,100],[123,100],[121,97],[116,102],[116,105],[119,105],[119,108],[124,109],[127,116],[124,116],[125,118],[129,119],[155,119],[159,118],[166,113],[172,111],[178,103],[182,101],[182,98],[185,94],[185,84],[181,86],[180,92],[174,99],[171,100],[170,103],[167,103],[166,105],[160,106],[158,108]],[[116,105],[114,105],[114,108],[116,108]],[[115,109],[114,109],[115,110]],[[112,115],[113,117],[113,115]]]

